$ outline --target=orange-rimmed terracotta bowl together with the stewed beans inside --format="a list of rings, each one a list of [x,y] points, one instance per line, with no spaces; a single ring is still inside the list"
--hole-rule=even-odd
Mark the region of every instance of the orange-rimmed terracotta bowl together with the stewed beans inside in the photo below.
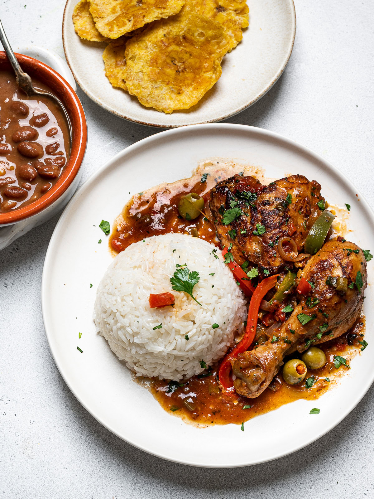
[[[28,97],[0,51],[0,249],[69,201],[87,144],[83,107],[69,83],[37,59],[16,57],[35,88],[63,103],[72,136],[62,109],[47,96]]]

